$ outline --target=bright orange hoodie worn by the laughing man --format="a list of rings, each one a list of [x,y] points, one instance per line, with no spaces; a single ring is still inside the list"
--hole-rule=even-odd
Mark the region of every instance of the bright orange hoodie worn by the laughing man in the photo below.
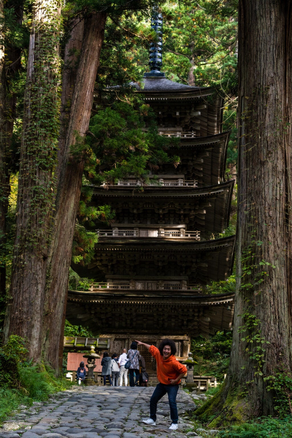
[[[186,373],[187,369],[183,364],[180,364],[173,354],[166,360],[159,353],[159,350],[154,345],[151,345],[149,352],[156,359],[157,363],[157,378],[163,385],[171,385],[170,380],[176,379],[179,374]],[[180,380],[177,384],[180,383]]]

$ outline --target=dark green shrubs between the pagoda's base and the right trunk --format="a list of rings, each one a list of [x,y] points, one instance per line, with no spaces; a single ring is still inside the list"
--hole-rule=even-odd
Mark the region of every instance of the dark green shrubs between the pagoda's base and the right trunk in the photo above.
[[[223,381],[229,365],[232,345],[232,332],[217,332],[210,339],[198,336],[191,340],[195,375],[214,375],[218,381]]]

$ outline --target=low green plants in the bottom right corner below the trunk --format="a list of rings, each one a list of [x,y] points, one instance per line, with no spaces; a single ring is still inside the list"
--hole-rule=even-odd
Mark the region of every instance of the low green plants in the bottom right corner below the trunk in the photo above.
[[[284,419],[262,417],[240,426],[230,426],[220,431],[220,438],[290,438],[292,436],[292,417]]]

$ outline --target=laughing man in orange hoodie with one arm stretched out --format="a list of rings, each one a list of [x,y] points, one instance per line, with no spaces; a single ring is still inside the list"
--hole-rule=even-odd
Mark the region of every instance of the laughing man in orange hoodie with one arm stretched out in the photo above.
[[[156,359],[158,385],[156,386],[150,399],[150,418],[143,420],[143,423],[156,426],[156,410],[158,401],[167,393],[170,408],[170,418],[172,421],[169,430],[176,431],[179,420],[176,395],[179,389],[180,379],[186,374],[186,367],[180,364],[175,358],[176,344],[171,339],[163,339],[158,345],[148,345],[136,341],[138,345],[144,345],[149,353]]]

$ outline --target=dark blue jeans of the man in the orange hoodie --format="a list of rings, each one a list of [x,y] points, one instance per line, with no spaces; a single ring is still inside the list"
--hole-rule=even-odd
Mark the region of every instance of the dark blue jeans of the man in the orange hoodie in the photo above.
[[[179,414],[177,413],[176,407],[176,394],[178,390],[179,385],[163,385],[163,383],[158,383],[150,399],[150,418],[152,418],[152,420],[156,421],[157,403],[167,393],[170,407],[170,418],[172,423],[177,424],[179,420]]]

